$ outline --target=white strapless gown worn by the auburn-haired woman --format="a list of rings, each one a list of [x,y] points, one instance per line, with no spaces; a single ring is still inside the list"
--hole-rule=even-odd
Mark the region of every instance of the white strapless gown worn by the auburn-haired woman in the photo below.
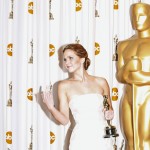
[[[111,139],[105,139],[103,96],[100,94],[74,95],[69,103],[76,122],[69,150],[112,150]]]

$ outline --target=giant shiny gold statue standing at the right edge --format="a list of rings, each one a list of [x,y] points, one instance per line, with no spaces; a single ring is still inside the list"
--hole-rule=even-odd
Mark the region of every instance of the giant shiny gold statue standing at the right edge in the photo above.
[[[130,15],[135,34],[117,46],[121,129],[126,150],[150,150],[150,5],[132,4]]]

